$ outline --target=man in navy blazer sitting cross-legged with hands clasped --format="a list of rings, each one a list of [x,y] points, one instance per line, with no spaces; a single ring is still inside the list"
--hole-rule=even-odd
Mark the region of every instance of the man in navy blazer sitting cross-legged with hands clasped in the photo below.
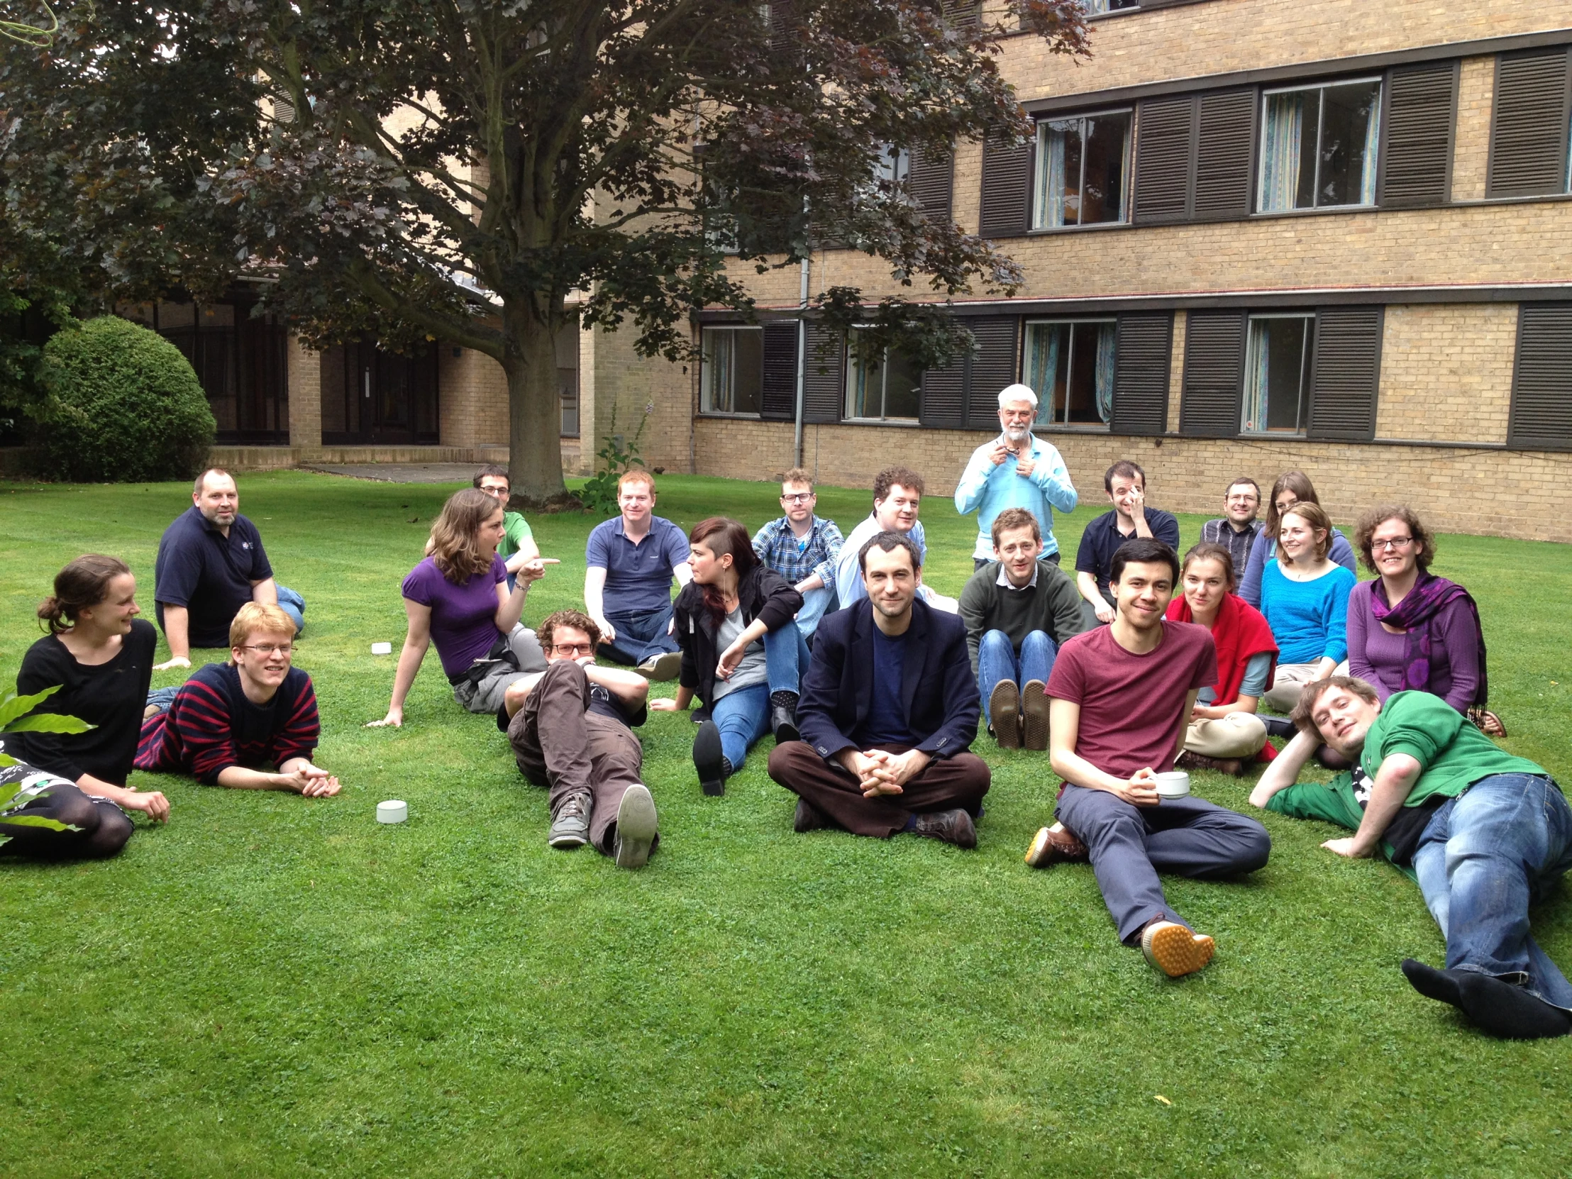
[[[800,742],[770,753],[795,827],[926,835],[976,847],[987,764],[968,753],[981,700],[957,615],[916,599],[923,556],[902,533],[857,555],[868,597],[825,615],[797,703]]]

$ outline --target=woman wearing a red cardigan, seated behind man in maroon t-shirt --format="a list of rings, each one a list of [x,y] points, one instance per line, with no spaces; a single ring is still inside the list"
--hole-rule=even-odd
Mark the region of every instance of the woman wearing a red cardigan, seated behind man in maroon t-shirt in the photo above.
[[[1256,759],[1270,761],[1267,728],[1256,715],[1272,684],[1276,641],[1261,612],[1234,593],[1234,556],[1220,544],[1198,544],[1184,556],[1184,594],[1168,604],[1168,618],[1212,632],[1217,682],[1201,689],[1177,769],[1242,773]]]

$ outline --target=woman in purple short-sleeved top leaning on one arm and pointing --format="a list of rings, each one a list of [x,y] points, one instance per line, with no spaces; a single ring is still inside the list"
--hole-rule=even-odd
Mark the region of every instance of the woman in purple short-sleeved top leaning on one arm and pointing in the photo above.
[[[409,634],[393,674],[388,714],[371,726],[404,723],[404,700],[431,643],[437,645],[453,698],[470,712],[497,712],[509,684],[545,671],[545,654],[519,615],[547,561],[536,556],[519,566],[509,593],[508,567],[497,555],[501,538],[503,506],[486,492],[465,487],[442,505],[431,525],[429,555],[404,578]]]

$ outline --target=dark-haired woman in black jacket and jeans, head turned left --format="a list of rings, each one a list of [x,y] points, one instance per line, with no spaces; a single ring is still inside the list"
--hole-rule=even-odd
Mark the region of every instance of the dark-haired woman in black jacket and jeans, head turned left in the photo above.
[[[693,580],[673,607],[682,673],[674,700],[656,712],[704,703],[693,767],[704,794],[725,794],[753,744],[770,729],[797,740],[797,693],[808,648],[794,626],[802,594],[759,561],[747,530],[712,516],[689,533]]]

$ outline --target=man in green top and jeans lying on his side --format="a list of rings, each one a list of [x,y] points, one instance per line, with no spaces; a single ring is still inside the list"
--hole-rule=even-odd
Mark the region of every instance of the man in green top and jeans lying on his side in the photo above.
[[[1382,704],[1363,679],[1331,676],[1305,685],[1294,723],[1298,734],[1250,802],[1347,827],[1352,838],[1322,847],[1380,850],[1420,882],[1446,937],[1446,968],[1404,959],[1413,989],[1492,1036],[1567,1034],[1572,984],[1528,935],[1530,902],[1572,868],[1572,808],[1550,775],[1427,692]],[[1295,783],[1320,742],[1353,769]]]

